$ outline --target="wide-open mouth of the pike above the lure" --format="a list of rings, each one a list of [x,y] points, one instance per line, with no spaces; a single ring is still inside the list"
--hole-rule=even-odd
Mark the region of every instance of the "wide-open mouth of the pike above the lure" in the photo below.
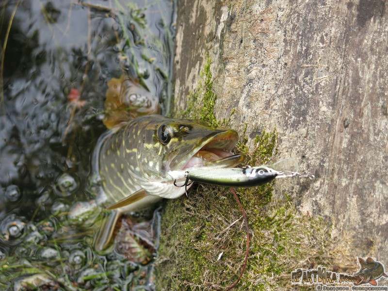
[[[238,133],[234,130],[215,132],[196,148],[182,170],[198,167],[226,168],[234,167],[242,162],[244,155],[234,154],[233,148],[238,142]]]

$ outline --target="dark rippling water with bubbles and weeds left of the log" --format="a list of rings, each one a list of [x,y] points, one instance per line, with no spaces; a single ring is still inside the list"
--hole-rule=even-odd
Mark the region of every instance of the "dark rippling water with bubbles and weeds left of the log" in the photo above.
[[[155,225],[124,219],[96,254],[102,210],[84,201],[107,82],[136,78],[169,112],[174,13],[171,0],[0,2],[0,290],[152,289]]]

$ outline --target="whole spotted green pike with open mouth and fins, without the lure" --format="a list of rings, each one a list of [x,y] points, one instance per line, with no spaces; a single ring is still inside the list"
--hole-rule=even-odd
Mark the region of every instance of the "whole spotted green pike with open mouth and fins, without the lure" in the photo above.
[[[106,247],[120,213],[185,193],[171,171],[239,164],[243,157],[231,152],[237,141],[234,130],[162,115],[136,117],[111,129],[100,138],[93,157],[103,188],[98,201],[114,209],[97,236],[96,249]]]

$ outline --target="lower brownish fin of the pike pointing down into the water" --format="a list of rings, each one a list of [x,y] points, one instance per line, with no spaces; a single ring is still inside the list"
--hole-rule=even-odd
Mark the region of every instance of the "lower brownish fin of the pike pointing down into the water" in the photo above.
[[[102,224],[94,240],[94,247],[97,252],[101,252],[108,247],[113,236],[114,226],[116,225],[120,214],[119,211],[113,210],[103,218]]]

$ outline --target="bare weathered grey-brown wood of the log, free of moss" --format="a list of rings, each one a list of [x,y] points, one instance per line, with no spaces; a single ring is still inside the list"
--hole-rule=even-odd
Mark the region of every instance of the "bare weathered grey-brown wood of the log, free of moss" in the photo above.
[[[388,261],[388,4],[384,0],[181,0],[176,110],[207,55],[217,118],[254,138],[279,133],[314,181],[276,182],[305,213],[332,220],[355,256]]]

